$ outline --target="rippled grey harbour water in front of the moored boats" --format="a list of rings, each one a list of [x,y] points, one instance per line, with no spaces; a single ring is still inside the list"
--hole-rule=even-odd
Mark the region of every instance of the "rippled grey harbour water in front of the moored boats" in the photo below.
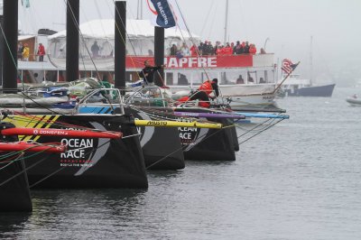
[[[149,171],[149,189],[32,190],[2,239],[361,239],[361,107],[278,100],[291,119],[241,145],[236,162]]]

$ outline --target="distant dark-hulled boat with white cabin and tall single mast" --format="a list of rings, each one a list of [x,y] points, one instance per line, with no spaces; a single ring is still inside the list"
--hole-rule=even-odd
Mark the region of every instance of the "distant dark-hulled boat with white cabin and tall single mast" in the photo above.
[[[310,38],[310,73],[312,74],[312,37]],[[285,96],[290,97],[332,97],[336,84],[316,85],[312,77],[301,78],[300,74],[291,74],[282,84]]]

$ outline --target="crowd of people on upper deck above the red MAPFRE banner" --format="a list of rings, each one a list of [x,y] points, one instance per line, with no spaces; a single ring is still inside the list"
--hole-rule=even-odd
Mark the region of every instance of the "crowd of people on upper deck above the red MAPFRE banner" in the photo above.
[[[239,54],[255,54],[257,49],[254,43],[249,42],[227,42],[225,45],[221,42],[212,44],[210,41],[199,42],[199,46],[193,44],[190,48],[183,42],[180,48],[176,44],[171,45],[171,56],[178,58],[186,56],[208,56],[208,55],[239,55]],[[264,54],[265,51],[262,48],[259,51],[260,54]]]

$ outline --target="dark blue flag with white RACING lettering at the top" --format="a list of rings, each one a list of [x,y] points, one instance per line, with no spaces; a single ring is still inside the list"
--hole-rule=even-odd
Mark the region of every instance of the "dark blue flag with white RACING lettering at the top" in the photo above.
[[[155,11],[157,11],[156,23],[163,28],[175,26],[175,19],[171,12],[171,6],[167,0],[152,0]]]

